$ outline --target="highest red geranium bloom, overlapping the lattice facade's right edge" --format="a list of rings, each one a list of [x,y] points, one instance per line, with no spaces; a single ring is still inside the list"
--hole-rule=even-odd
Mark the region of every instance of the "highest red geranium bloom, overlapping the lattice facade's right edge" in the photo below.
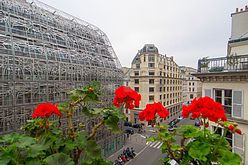
[[[115,94],[116,96],[113,101],[114,106],[120,107],[120,105],[123,103],[125,103],[125,107],[127,109],[133,109],[134,106],[139,106],[141,95],[134,91],[132,88],[120,86],[118,89],[115,90]]]

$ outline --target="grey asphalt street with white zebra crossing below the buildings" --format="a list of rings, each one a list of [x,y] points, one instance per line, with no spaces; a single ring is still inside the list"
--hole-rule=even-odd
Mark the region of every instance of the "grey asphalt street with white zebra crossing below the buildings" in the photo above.
[[[195,120],[183,119],[176,125],[179,127],[181,125],[194,125]],[[129,137],[125,146],[107,158],[108,161],[113,161],[117,159],[123,150],[127,147],[133,147],[135,149],[136,156],[134,159],[126,162],[126,165],[162,165],[162,162],[158,160],[164,158],[165,154],[161,153],[160,147],[162,142],[146,142],[146,138],[152,135],[156,135],[156,128],[146,127],[145,133],[135,133]],[[135,129],[134,129],[135,130]],[[135,130],[136,131],[136,130]],[[179,142],[180,138],[176,137]]]

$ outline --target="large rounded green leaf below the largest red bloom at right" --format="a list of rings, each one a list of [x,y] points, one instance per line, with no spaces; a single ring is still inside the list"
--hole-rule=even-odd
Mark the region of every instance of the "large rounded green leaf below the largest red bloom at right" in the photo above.
[[[208,143],[194,141],[189,148],[189,155],[197,160],[207,161],[206,156],[210,153],[210,146]]]

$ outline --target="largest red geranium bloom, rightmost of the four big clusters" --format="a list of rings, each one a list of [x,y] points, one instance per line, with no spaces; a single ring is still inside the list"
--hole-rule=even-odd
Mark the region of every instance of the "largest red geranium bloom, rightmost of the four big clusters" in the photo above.
[[[185,118],[188,118],[191,113],[192,118],[199,119],[199,117],[202,116],[214,122],[217,122],[219,119],[222,121],[227,121],[227,117],[225,115],[226,111],[223,109],[222,105],[207,96],[200,97],[198,100],[194,98],[191,105],[183,105],[182,109],[182,116]]]

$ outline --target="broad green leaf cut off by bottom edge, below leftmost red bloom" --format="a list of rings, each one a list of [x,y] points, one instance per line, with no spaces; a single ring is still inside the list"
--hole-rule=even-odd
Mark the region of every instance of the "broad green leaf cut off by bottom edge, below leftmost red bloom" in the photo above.
[[[56,153],[44,159],[48,165],[74,165],[73,160],[64,153]]]

